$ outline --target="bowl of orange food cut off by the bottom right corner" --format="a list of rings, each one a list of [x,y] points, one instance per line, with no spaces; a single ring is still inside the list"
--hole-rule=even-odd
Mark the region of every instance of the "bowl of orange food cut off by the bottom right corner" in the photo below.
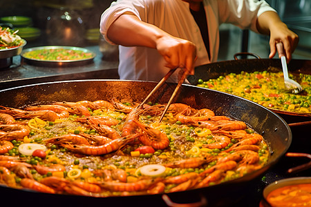
[[[281,179],[263,190],[263,206],[311,206],[311,177]]]

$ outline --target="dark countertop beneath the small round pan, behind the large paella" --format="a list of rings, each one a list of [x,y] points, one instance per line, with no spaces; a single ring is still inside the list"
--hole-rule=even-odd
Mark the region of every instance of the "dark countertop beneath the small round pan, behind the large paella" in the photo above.
[[[98,46],[86,47],[96,53],[93,62],[75,67],[43,67],[27,63],[20,55],[12,57],[9,68],[0,69],[0,90],[48,81],[73,79],[119,79],[115,58],[105,57]]]

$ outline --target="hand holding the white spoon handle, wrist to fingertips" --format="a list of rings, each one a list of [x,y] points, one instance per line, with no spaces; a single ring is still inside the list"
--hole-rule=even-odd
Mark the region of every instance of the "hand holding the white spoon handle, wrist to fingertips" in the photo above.
[[[284,46],[285,57],[288,62],[292,59],[292,52],[294,52],[299,37],[297,34],[288,29],[285,23],[275,24],[270,28],[270,55],[269,58],[276,55],[276,43],[282,42]]]

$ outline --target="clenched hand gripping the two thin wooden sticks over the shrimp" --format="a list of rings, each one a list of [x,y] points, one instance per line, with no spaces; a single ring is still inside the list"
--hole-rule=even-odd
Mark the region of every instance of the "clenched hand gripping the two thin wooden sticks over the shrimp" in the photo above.
[[[194,75],[196,46],[191,41],[171,36],[162,36],[156,41],[156,49],[164,57],[167,68],[182,68]]]

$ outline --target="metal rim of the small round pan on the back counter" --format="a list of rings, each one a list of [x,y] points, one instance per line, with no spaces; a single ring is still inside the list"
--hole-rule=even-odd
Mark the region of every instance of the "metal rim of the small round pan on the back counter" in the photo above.
[[[91,57],[86,59],[73,59],[73,60],[41,60],[41,59],[32,59],[26,57],[26,52],[31,52],[35,50],[50,50],[50,49],[66,49],[66,50],[78,50],[86,53],[91,53]],[[79,48],[79,47],[72,47],[72,46],[42,46],[42,47],[35,47],[35,48],[28,48],[21,52],[21,57],[23,58],[26,63],[35,66],[44,66],[44,67],[73,67],[73,66],[82,66],[88,63],[93,62],[95,58],[95,52],[88,50],[86,48]]]

